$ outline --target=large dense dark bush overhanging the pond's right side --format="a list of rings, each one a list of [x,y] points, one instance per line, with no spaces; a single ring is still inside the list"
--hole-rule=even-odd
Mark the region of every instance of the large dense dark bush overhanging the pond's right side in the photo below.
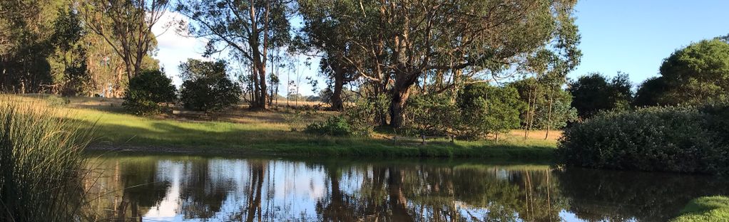
[[[620,170],[725,173],[729,106],[643,108],[600,114],[564,131],[564,164]]]

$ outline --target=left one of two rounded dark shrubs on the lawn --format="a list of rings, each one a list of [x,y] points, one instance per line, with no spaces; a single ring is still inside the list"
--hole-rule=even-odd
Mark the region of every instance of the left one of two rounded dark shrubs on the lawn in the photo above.
[[[161,71],[142,71],[129,81],[122,106],[133,114],[159,114],[160,103],[174,103],[176,90],[172,80]]]

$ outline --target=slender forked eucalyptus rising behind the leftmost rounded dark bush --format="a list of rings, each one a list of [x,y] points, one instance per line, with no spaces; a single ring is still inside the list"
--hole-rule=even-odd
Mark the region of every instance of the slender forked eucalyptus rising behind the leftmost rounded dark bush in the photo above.
[[[90,0],[82,4],[82,14],[86,27],[120,56],[131,79],[141,73],[145,58],[156,48],[152,27],[168,5],[168,0]]]

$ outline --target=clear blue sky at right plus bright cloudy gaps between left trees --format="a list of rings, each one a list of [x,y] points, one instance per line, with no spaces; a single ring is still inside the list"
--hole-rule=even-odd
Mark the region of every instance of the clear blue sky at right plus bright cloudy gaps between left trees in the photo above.
[[[582,63],[569,74],[572,79],[600,72],[615,76],[617,71],[630,75],[634,84],[658,76],[663,58],[691,42],[729,33],[729,0],[581,0],[575,16],[582,35]],[[168,20],[179,19],[168,13]],[[163,33],[155,27],[155,33]],[[157,37],[157,59],[176,84],[177,66],[187,58],[202,58],[205,41],[178,36],[174,30]],[[314,64],[317,61],[312,61]],[[305,76],[317,76],[316,66],[301,67]],[[285,78],[285,77],[284,77]],[[321,79],[321,78],[319,78]],[[284,79],[285,81],[285,79]],[[300,93],[312,95],[302,80]],[[323,80],[319,80],[324,84]],[[285,94],[286,87],[279,87]]]

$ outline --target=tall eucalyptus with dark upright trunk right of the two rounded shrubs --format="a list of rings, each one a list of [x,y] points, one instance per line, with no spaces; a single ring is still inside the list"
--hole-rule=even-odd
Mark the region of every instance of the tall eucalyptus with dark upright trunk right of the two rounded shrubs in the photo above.
[[[269,49],[290,39],[291,3],[282,0],[179,1],[175,10],[190,18],[189,34],[208,40],[206,55],[233,53],[251,64],[250,107],[264,109]]]

